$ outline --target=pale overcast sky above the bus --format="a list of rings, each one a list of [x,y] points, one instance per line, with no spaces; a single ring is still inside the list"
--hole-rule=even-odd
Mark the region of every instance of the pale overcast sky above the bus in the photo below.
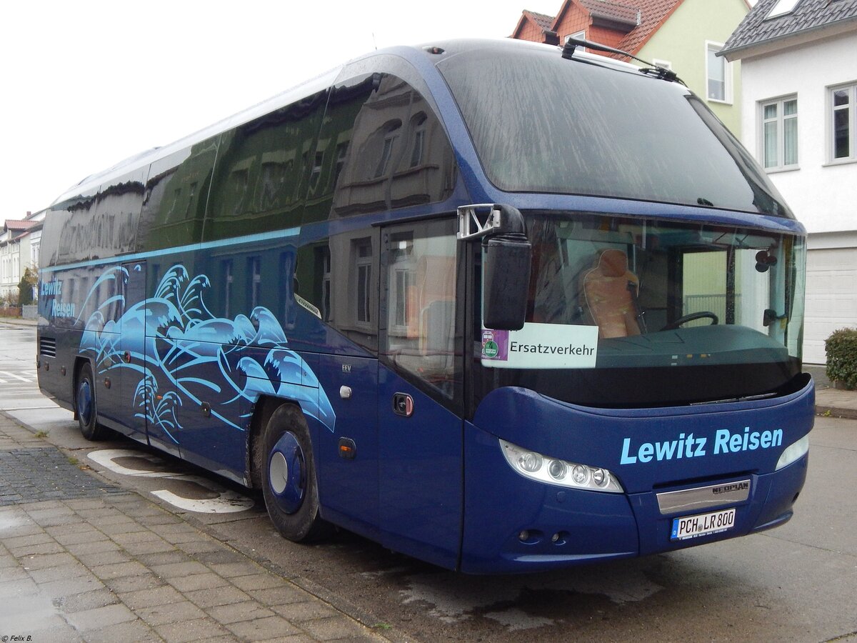
[[[552,14],[560,4],[4,2],[0,220],[375,47],[504,38],[524,7]]]

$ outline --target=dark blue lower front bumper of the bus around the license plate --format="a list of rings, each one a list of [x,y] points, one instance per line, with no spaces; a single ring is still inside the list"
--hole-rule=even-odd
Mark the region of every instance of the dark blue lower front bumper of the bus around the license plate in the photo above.
[[[464,536],[460,569],[512,574],[567,568],[679,550],[782,525],[806,479],[808,454],[777,472],[729,476],[642,493],[565,489],[521,477],[500,454],[497,438],[465,430]],[[695,486],[740,486],[745,500],[663,513],[658,496]],[[727,510],[734,509],[734,514]],[[723,512],[722,515],[718,515]],[[710,531],[679,534],[676,519],[711,520]],[[722,526],[716,525],[722,520]],[[685,523],[690,524],[690,521]],[[704,528],[703,528],[704,531]]]

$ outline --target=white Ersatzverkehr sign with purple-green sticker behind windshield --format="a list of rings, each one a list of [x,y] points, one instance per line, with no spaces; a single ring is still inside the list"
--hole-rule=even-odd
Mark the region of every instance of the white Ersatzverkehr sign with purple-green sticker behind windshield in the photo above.
[[[482,366],[494,369],[594,369],[597,326],[524,324],[482,329]]]

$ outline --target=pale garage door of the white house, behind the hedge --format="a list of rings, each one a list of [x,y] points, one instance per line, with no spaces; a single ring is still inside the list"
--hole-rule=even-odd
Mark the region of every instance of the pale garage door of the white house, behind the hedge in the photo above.
[[[804,362],[824,364],[824,340],[837,328],[857,328],[857,248],[806,255]]]

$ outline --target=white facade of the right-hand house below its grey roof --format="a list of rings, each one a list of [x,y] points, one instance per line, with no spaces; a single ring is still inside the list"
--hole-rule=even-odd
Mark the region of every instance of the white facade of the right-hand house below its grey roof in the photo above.
[[[761,158],[759,101],[796,94],[798,165],[771,181],[809,232],[803,358],[824,364],[824,340],[857,327],[857,163],[828,164],[828,87],[857,82],[857,33],[741,60],[741,141]],[[857,109],[857,105],[852,105]]]

